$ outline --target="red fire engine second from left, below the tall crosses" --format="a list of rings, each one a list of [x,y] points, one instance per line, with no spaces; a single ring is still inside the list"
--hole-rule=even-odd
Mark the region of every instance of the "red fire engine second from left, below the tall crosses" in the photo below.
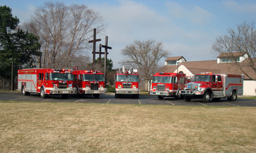
[[[104,73],[93,70],[79,70],[77,66],[73,70],[76,96],[93,95],[95,98],[100,94],[106,94]]]

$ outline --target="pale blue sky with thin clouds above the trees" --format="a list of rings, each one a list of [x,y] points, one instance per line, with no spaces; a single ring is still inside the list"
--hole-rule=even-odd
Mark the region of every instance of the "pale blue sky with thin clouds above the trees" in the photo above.
[[[30,19],[34,9],[46,1],[1,1],[13,10],[20,23]],[[55,2],[55,1],[53,1]],[[114,68],[121,67],[120,50],[134,40],[155,39],[162,41],[164,49],[171,56],[183,56],[187,61],[205,61],[216,59],[218,55],[210,53],[211,46],[218,35],[225,35],[226,29],[236,28],[244,20],[256,22],[256,1],[63,1],[85,4],[108,23],[105,35],[108,36],[108,58]],[[105,35],[97,36],[101,44]],[[99,42],[97,42],[100,44]],[[96,55],[96,58],[98,55]],[[164,59],[160,61],[164,65]]]

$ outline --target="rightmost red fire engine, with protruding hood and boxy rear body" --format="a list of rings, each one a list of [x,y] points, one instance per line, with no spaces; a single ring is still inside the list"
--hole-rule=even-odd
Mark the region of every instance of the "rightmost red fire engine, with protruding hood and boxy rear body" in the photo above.
[[[243,95],[243,78],[237,74],[196,74],[193,82],[189,82],[180,94],[184,95],[185,101],[203,99],[209,102],[210,99],[218,101],[221,98],[234,101],[237,95]]]

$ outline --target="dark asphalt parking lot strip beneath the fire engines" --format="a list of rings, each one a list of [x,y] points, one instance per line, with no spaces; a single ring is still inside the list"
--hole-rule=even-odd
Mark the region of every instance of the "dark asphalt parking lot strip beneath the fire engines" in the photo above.
[[[22,95],[21,92],[0,92],[0,100],[9,101],[49,101],[49,102],[67,102],[67,103],[112,103],[112,104],[154,104],[154,105],[217,105],[217,106],[234,106],[234,107],[256,107],[256,100],[237,98],[236,101],[228,101],[221,99],[218,102],[210,101],[204,103],[202,99],[192,99],[187,102],[184,100],[175,100],[173,97],[164,97],[160,100],[157,96],[140,95],[139,99],[134,99],[131,96],[123,96],[115,98],[114,94],[102,94],[98,99],[94,96],[68,96],[63,99],[59,95],[50,95],[47,98],[42,98],[39,94],[31,94],[28,96]]]

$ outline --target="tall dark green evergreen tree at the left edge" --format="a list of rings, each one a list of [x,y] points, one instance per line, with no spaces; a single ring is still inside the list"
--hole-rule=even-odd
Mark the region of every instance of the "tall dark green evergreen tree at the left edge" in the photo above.
[[[18,29],[19,19],[11,14],[11,8],[0,6],[0,76],[11,79],[11,59],[14,77],[18,69],[35,67],[36,56],[40,56],[39,38]],[[14,87],[14,86],[13,86]]]

